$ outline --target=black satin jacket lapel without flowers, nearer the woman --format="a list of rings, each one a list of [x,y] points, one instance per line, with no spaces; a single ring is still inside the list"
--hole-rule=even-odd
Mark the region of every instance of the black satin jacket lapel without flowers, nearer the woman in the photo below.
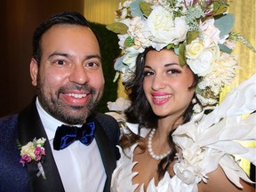
[[[100,156],[104,164],[105,172],[107,174],[107,180],[104,187],[104,192],[108,192],[110,189],[111,175],[116,168],[116,155],[114,150],[110,145],[107,134],[104,132],[102,126],[98,121],[95,120],[96,130],[95,130],[95,140],[97,142],[98,148],[100,149]]]

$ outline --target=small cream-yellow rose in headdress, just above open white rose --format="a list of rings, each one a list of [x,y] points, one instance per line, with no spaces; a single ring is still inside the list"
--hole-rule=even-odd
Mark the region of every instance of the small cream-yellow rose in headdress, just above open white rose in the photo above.
[[[190,44],[186,45],[186,57],[188,59],[195,59],[203,50],[203,42],[199,38],[196,38]]]

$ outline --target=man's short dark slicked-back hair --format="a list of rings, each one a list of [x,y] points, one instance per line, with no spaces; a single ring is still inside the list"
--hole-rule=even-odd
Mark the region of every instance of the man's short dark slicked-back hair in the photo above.
[[[86,20],[84,16],[78,12],[61,12],[59,14],[52,15],[52,17],[47,20],[44,20],[44,22],[41,23],[38,28],[36,28],[32,42],[32,57],[37,61],[38,64],[40,63],[42,57],[42,36],[46,31],[52,28],[52,26],[58,24],[69,24],[91,28],[88,20]],[[96,36],[95,33],[94,35]],[[100,44],[98,36],[96,36],[96,38]]]

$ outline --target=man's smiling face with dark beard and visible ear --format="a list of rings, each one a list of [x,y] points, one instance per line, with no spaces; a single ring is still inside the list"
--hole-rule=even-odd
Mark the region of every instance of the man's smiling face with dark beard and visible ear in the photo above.
[[[30,63],[44,110],[67,124],[84,124],[104,89],[100,47],[90,28],[55,25],[42,37],[42,59]]]

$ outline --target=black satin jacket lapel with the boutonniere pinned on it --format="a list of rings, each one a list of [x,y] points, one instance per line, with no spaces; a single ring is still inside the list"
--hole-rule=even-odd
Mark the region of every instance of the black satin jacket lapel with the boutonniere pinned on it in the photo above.
[[[29,183],[32,191],[64,191],[60,174],[52,156],[52,149],[43,124],[36,110],[36,99],[24,109],[18,117],[18,138],[21,145],[26,145],[34,138],[39,139],[44,137],[45,157],[43,162],[46,180],[42,175],[36,176],[38,167],[36,163],[27,164]]]

